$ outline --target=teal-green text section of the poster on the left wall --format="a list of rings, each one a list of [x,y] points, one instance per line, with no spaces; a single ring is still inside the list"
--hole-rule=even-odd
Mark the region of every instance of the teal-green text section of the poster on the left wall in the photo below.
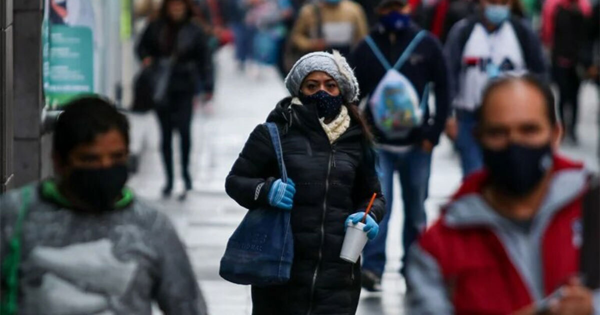
[[[44,62],[46,104],[64,104],[76,95],[94,93],[94,38],[86,26],[51,24]]]

